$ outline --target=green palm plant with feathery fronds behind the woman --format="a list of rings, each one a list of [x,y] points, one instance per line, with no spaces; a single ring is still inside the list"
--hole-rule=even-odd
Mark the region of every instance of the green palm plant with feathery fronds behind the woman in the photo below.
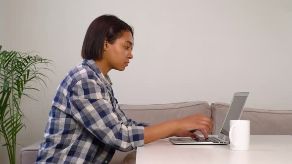
[[[46,84],[42,70],[53,62],[38,55],[1,51],[0,45],[0,143],[7,148],[10,164],[15,164],[16,135],[25,126],[20,102],[23,96],[36,100],[28,90],[39,91],[32,82]],[[42,65],[46,65],[43,67]]]

